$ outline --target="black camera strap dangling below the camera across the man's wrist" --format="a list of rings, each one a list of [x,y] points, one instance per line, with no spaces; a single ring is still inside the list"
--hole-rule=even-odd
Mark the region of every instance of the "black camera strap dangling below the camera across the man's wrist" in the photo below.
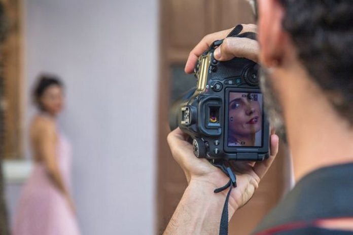
[[[227,193],[226,201],[224,202],[223,206],[223,211],[222,211],[222,216],[221,216],[221,223],[220,223],[220,232],[219,235],[228,235],[228,201],[230,197],[230,193],[232,191],[232,188],[236,187],[236,177],[230,167],[226,167],[224,163],[222,164],[213,164],[215,167],[220,168],[224,174],[226,174],[229,177],[229,181],[226,185],[220,188],[216,188],[214,190],[215,193],[222,192],[229,188],[229,191]]]

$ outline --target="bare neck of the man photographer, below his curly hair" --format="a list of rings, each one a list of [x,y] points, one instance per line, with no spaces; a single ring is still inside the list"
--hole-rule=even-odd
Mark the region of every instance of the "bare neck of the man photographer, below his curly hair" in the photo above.
[[[292,71],[292,72],[291,72]],[[296,180],[325,167],[353,162],[353,131],[300,66],[276,69]],[[291,89],[284,89],[285,87]]]

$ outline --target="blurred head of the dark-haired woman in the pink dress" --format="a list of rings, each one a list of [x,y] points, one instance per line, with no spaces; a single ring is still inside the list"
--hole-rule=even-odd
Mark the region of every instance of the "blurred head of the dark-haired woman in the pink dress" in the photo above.
[[[33,97],[41,111],[56,116],[64,105],[63,84],[56,76],[40,75]]]

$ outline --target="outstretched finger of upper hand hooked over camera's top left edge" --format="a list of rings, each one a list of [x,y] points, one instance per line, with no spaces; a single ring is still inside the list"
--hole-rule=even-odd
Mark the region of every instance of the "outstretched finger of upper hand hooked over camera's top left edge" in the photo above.
[[[223,31],[208,34],[202,38],[202,40],[196,45],[196,47],[190,52],[188,60],[185,65],[185,72],[192,73],[198,57],[209,48],[209,46],[216,40],[225,38],[233,28],[226,29]]]

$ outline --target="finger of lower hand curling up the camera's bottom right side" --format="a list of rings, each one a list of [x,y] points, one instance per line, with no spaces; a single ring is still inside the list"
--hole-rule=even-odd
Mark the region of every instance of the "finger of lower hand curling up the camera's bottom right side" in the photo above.
[[[278,152],[279,138],[277,135],[271,135],[270,139],[270,157],[262,162],[258,162],[254,166],[254,172],[259,176],[260,179],[264,177],[267,170],[270,168],[273,160]]]

